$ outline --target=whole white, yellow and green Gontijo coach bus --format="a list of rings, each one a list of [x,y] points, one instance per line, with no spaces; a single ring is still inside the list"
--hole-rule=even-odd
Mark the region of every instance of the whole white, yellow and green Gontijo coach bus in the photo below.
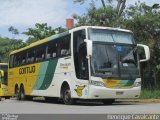
[[[139,60],[138,46],[145,59]],[[138,98],[140,62],[149,58],[149,48],[137,44],[129,30],[77,27],[11,52],[9,91],[19,100],[44,96],[65,104]]]

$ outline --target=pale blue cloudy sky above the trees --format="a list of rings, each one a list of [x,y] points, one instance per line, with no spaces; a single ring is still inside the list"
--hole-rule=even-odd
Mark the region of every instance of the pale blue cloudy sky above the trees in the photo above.
[[[74,3],[74,0],[0,0],[0,36],[15,37],[8,32],[10,26],[14,26],[20,33],[27,28],[34,27],[36,23],[47,23],[56,27],[65,27],[66,18],[71,18],[74,13],[82,15],[89,6],[88,0],[85,4]],[[138,0],[127,0],[127,6]],[[160,0],[140,0],[147,5],[160,4]],[[96,6],[100,7],[100,0]],[[25,35],[16,38],[27,39]]]

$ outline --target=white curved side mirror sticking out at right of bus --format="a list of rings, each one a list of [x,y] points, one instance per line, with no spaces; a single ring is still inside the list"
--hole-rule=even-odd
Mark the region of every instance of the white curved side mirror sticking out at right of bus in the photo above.
[[[143,44],[137,44],[138,47],[142,47],[144,49],[145,52],[145,59],[140,60],[140,62],[146,62],[150,59],[150,50],[149,47],[147,45],[143,45]]]

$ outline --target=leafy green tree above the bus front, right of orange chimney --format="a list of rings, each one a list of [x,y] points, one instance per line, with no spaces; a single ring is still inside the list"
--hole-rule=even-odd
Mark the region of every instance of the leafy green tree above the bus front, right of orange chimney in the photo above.
[[[105,9],[96,8],[94,2],[90,4],[86,14],[83,16],[74,14],[73,18],[77,20],[76,26],[98,25],[119,27],[123,21],[123,16],[117,16],[116,9],[113,6],[106,6]]]

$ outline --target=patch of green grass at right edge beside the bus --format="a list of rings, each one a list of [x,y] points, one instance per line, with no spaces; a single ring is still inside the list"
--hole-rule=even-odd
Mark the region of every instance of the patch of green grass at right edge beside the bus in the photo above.
[[[142,90],[140,99],[160,99],[160,90]]]

